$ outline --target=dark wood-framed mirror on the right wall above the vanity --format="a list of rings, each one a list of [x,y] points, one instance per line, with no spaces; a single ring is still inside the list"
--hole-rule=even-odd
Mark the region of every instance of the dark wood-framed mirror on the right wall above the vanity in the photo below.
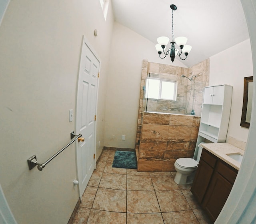
[[[249,128],[252,114],[253,76],[244,77],[244,100],[240,126]]]

